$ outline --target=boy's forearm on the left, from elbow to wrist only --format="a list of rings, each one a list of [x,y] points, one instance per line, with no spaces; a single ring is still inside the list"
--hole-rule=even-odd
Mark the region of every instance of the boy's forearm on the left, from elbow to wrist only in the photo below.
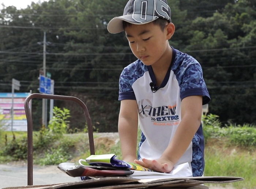
[[[129,119],[120,118],[118,121],[118,133],[123,160],[133,162],[133,160],[137,159],[138,122],[135,123]]]

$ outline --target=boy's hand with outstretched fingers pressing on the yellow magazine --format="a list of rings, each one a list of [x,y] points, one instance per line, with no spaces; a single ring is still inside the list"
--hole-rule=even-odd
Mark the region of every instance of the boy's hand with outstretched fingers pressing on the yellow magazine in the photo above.
[[[153,169],[157,172],[169,173],[173,170],[173,162],[166,158],[159,158],[158,160],[148,160],[142,158],[142,161],[134,160],[136,164],[139,164],[145,168]]]

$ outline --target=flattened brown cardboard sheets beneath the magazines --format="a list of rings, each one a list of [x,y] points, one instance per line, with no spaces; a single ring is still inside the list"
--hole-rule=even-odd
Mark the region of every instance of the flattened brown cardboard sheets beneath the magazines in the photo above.
[[[135,179],[131,177],[102,177],[97,179],[67,182],[62,184],[22,186],[4,189],[140,189],[140,188],[190,188],[206,189],[204,183],[222,184],[242,181],[242,177],[178,177],[159,179]]]

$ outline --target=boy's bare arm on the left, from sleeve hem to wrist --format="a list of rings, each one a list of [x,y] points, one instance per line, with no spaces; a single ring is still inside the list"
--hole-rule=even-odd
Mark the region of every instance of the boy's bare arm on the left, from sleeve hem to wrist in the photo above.
[[[118,133],[123,160],[137,160],[138,106],[135,100],[122,100],[118,118]]]

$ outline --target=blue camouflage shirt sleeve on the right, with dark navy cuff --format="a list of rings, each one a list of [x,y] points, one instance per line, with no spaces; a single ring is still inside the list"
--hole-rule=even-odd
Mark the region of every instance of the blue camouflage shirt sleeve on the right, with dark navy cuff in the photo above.
[[[197,60],[191,58],[187,62],[180,73],[180,98],[181,100],[188,96],[201,95],[203,97],[203,105],[210,102],[210,95],[207,90],[206,83],[203,79],[203,71]]]

